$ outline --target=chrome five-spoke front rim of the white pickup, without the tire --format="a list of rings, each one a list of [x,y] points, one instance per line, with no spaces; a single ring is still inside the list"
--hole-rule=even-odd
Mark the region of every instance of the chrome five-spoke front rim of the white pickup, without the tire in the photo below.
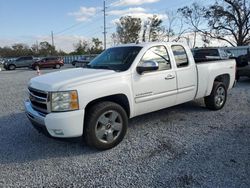
[[[95,125],[96,138],[102,143],[112,143],[121,134],[123,120],[121,115],[114,110],[104,112],[97,119]]]

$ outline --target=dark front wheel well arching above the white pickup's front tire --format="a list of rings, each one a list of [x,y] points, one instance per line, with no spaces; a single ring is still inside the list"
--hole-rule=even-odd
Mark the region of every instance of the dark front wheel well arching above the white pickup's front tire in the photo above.
[[[128,101],[127,96],[124,94],[110,95],[110,96],[95,99],[87,104],[87,106],[85,107],[85,111],[88,111],[91,106],[102,101],[110,101],[110,102],[114,102],[114,103],[121,105],[121,107],[126,111],[128,117],[130,117],[129,101]]]

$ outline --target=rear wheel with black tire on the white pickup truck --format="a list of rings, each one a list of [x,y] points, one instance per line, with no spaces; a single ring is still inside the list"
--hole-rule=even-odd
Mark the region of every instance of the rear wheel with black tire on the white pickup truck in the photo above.
[[[210,110],[220,110],[227,100],[227,89],[221,82],[214,82],[212,92],[204,98],[206,107]]]

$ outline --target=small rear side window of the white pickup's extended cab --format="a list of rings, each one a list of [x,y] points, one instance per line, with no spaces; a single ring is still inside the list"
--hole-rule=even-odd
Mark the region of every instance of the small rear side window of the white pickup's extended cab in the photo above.
[[[188,56],[187,56],[186,50],[183,48],[183,46],[180,46],[180,45],[172,46],[172,51],[174,54],[177,68],[187,67],[188,66]]]

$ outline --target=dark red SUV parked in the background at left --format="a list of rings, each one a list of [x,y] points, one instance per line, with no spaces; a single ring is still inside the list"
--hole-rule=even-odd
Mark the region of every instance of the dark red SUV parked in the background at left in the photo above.
[[[45,57],[31,65],[32,69],[38,68],[55,68],[60,69],[64,65],[64,61],[60,57]]]

